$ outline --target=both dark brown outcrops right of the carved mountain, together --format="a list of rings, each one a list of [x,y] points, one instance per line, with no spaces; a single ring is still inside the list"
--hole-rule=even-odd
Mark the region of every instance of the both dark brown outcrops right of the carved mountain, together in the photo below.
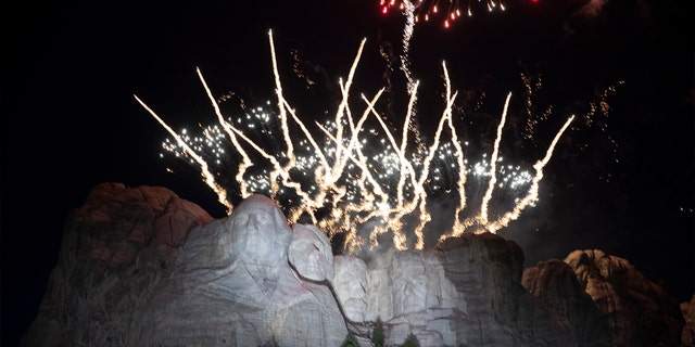
[[[681,312],[662,287],[626,259],[598,249],[574,250],[564,261],[526,269],[522,283],[592,346],[692,345],[692,333],[683,329],[687,309]]]

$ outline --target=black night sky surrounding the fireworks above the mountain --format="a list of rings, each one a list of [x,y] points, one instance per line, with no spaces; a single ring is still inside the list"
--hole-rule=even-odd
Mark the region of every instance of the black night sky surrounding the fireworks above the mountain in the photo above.
[[[503,155],[529,169],[565,119],[578,116],[545,168],[538,206],[500,232],[521,246],[527,266],[598,248],[627,258],[679,301],[695,293],[694,9],[673,3],[509,0],[505,12],[473,7],[448,29],[437,17],[415,26],[408,57],[426,137],[441,115],[442,61],[459,91],[458,117],[470,126],[464,137],[480,149],[494,140],[513,93]],[[3,346],[16,345],[36,316],[65,217],[98,183],[166,187],[225,215],[194,167],[166,170],[176,167],[160,158],[168,133],[134,94],[176,130],[216,120],[197,67],[218,98],[274,100],[273,29],[286,97],[313,124],[334,112],[338,78],[363,38],[354,94],[384,87],[379,47],[403,53],[405,17],[382,15],[378,0],[9,7],[0,11]],[[292,72],[293,52],[315,85]],[[553,111],[530,140],[520,136],[521,75],[542,78],[536,114]],[[397,65],[390,81],[390,116],[402,119]],[[598,112],[587,124],[587,105],[610,87],[608,116]],[[230,116],[232,101],[224,108]]]

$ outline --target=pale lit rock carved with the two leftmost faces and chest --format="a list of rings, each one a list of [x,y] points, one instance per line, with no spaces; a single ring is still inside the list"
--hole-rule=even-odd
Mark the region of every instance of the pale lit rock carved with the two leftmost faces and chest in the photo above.
[[[332,277],[330,244],[312,228],[293,232],[268,197],[248,197],[231,216],[191,232],[130,334],[165,346],[340,345],[345,323],[318,282]]]

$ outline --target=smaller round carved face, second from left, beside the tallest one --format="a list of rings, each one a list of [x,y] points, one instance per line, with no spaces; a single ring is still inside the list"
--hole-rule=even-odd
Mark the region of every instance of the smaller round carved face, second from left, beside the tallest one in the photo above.
[[[294,224],[289,249],[290,264],[312,281],[332,280],[333,253],[328,237],[312,224]]]

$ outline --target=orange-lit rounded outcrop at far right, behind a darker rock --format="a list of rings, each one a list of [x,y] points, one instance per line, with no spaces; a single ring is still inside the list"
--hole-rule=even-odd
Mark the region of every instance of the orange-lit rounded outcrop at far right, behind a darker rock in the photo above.
[[[565,262],[608,320],[614,346],[678,346],[679,304],[627,259],[598,249],[574,250]]]

